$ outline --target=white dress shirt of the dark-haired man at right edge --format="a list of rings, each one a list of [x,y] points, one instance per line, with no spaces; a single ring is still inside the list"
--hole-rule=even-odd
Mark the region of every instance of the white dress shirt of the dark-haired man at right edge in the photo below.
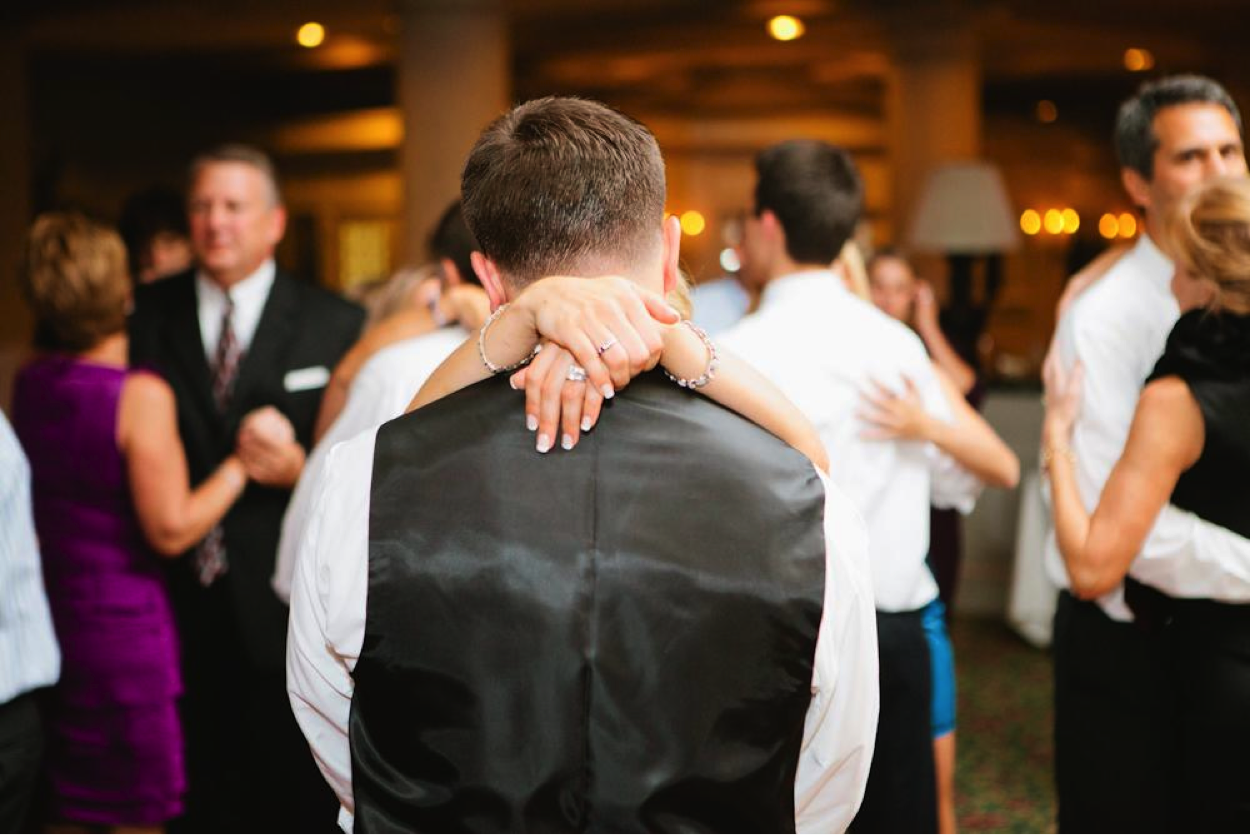
[[[1081,410],[1072,428],[1076,485],[1090,512],[1124,452],[1141,386],[1180,316],[1171,292],[1172,264],[1150,236],[1121,258],[1068,310],[1056,332],[1060,361],[1085,370]],[[1070,588],[1054,529],[1046,572]],[[1250,540],[1168,505],[1129,572],[1180,598],[1250,601]],[[1099,599],[1111,618],[1132,620],[1120,586]]]

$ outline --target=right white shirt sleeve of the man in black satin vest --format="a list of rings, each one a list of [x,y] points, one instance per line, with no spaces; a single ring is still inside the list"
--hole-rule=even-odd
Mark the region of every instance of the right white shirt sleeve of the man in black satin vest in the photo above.
[[[842,832],[864,800],[880,708],[868,532],[824,475],[825,609],[794,784],[795,826]]]

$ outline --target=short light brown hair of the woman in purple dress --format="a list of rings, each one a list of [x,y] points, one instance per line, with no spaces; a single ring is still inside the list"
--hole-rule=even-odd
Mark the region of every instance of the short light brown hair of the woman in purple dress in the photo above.
[[[130,276],[121,236],[76,212],[35,219],[26,236],[21,289],[35,311],[35,341],[85,351],[126,326]]]

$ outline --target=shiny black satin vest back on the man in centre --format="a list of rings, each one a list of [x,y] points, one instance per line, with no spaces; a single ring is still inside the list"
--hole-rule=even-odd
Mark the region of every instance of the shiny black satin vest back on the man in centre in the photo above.
[[[358,832],[792,832],[825,582],[802,455],[644,375],[571,452],[488,380],[378,432]]]

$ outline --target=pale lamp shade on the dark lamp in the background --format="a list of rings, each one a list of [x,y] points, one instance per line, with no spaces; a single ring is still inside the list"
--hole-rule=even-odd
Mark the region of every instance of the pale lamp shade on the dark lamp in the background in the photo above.
[[[929,175],[911,219],[914,249],[985,255],[1015,249],[1019,240],[1015,212],[994,164],[946,162]]]

